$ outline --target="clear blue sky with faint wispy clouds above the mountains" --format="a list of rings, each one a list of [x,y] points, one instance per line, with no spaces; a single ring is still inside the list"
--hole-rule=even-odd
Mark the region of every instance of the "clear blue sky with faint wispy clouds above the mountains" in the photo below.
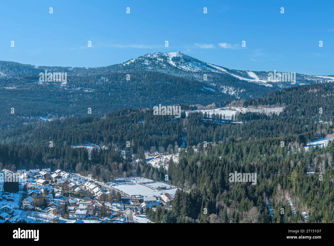
[[[230,69],[333,75],[333,8],[297,0],[4,1],[0,60],[97,67],[180,50]]]

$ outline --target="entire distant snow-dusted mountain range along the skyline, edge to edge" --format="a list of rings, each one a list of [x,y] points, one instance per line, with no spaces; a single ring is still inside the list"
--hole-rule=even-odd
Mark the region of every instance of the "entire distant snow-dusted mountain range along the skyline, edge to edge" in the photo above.
[[[275,78],[269,78],[269,73],[274,71],[242,71],[217,66],[196,58],[187,56],[182,52],[155,52],[137,59],[131,59],[123,64],[115,64],[107,67],[82,68],[82,67],[48,67],[32,66],[16,62],[0,62],[0,78],[10,79],[22,77],[22,75],[38,75],[40,72],[67,72],[69,83],[67,86],[82,86],[77,78],[85,77],[85,86],[92,88],[99,83],[103,75],[132,73],[132,72],[157,72],[189,81],[198,81],[200,89],[218,91],[231,95],[236,99],[247,99],[263,96],[265,93],[285,87],[333,82],[332,76],[313,76],[296,73],[296,83],[281,81],[279,71]],[[293,71],[288,71],[293,72]],[[102,77],[96,77],[101,75]],[[159,77],[159,76],[158,76]],[[120,78],[123,80],[123,78]],[[283,79],[282,79],[283,80]],[[72,82],[72,83],[71,83]],[[110,81],[112,83],[112,81]],[[194,84],[194,86],[197,86]]]

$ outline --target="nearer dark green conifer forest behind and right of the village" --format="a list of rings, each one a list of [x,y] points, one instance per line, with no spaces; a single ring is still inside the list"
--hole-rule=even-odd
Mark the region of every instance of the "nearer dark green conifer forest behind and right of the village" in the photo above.
[[[332,136],[333,95],[333,83],[271,92],[234,103],[283,106],[283,112],[239,113],[226,122],[218,115],[206,120],[200,112],[173,118],[154,115],[152,108],[128,108],[7,128],[0,135],[0,168],[51,167],[104,180],[131,175],[163,180],[164,170],[147,164],[144,152],[164,147],[179,152],[179,162],[169,163],[168,182],[181,189],[172,211],[147,212],[156,222],[334,222],[334,144],[304,148],[307,141]],[[90,155],[85,148],[71,148],[85,143],[106,148],[93,148]],[[257,173],[256,184],[229,182],[235,171]]]

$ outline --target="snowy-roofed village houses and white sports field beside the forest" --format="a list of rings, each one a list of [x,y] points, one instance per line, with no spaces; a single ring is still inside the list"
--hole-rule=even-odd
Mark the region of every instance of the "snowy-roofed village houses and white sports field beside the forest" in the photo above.
[[[49,168],[4,169],[0,175],[17,180],[0,179],[0,223],[152,223],[145,211],[171,209],[177,190],[143,177],[104,183],[91,175]]]

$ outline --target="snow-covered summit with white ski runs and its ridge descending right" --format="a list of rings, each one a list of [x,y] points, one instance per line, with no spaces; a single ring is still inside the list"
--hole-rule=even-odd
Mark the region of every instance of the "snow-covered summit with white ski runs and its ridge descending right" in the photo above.
[[[270,77],[269,75],[270,72],[265,72],[265,71],[258,72],[258,71],[231,70],[225,67],[200,61],[196,58],[187,56],[180,51],[167,52],[167,53],[161,53],[161,52],[150,53],[138,57],[137,59],[131,59],[123,63],[123,66],[128,68],[134,66],[141,67],[141,69],[160,71],[168,74],[181,73],[181,76],[185,72],[191,74],[215,73],[218,76],[219,74],[224,74],[232,76],[239,81],[252,82],[267,87],[278,86],[280,88],[291,85],[299,85],[299,84],[334,82],[333,76],[317,76],[317,75],[312,76],[312,75],[295,73],[296,83],[291,83],[292,81],[285,81],[283,79],[285,72],[273,71],[272,73],[275,76],[275,78],[273,78]],[[201,76],[195,75],[194,77],[201,79]]]

